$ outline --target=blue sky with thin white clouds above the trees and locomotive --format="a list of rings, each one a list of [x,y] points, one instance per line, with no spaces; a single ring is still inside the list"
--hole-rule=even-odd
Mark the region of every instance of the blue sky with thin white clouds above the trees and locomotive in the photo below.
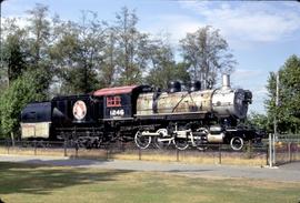
[[[26,11],[36,3],[48,6],[51,17],[72,21],[80,21],[81,11],[90,10],[113,22],[116,13],[128,7],[136,10],[139,30],[169,33],[174,49],[188,32],[204,26],[219,29],[238,62],[231,85],[252,91],[252,112],[266,112],[269,72],[278,71],[290,55],[300,57],[297,1],[6,0],[2,18],[26,19]]]

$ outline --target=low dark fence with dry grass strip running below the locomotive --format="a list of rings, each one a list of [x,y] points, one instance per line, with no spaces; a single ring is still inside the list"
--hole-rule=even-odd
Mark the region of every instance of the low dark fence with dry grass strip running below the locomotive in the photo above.
[[[206,164],[237,164],[237,165],[266,165],[268,164],[267,145],[248,143],[241,151],[232,151],[228,144],[210,144],[203,151],[189,148],[184,151],[170,145],[166,149],[157,149],[151,145],[141,150],[133,142],[103,143],[97,149],[86,149],[72,141],[46,142],[46,141],[0,141],[1,154],[20,155],[53,155],[69,156],[71,159],[97,160],[143,160],[182,163]]]

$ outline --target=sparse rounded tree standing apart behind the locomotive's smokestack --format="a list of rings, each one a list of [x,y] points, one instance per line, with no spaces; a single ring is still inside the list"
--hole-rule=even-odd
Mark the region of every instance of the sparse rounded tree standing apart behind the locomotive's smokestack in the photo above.
[[[180,43],[192,80],[201,81],[204,87],[210,81],[213,85],[218,74],[232,72],[236,61],[219,30],[209,26],[200,28],[188,33]]]

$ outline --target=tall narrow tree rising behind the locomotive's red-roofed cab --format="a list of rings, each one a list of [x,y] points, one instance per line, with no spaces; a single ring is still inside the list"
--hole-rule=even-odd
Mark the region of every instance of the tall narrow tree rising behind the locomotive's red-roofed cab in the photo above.
[[[120,84],[140,83],[149,59],[148,34],[137,29],[138,17],[122,8],[113,27],[117,37],[117,67]]]

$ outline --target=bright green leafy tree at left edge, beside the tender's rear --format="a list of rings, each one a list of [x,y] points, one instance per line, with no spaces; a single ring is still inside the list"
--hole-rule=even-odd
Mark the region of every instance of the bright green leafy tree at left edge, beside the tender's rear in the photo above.
[[[38,72],[26,72],[16,79],[0,97],[0,130],[2,136],[18,134],[20,113],[26,104],[41,101],[44,95],[39,93],[40,83],[32,78],[39,78]]]

